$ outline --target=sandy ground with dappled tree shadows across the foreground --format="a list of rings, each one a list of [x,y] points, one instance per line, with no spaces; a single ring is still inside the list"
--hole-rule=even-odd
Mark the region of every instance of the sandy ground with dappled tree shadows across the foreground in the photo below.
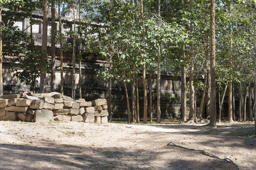
[[[0,122],[0,169],[256,169],[252,123]]]

